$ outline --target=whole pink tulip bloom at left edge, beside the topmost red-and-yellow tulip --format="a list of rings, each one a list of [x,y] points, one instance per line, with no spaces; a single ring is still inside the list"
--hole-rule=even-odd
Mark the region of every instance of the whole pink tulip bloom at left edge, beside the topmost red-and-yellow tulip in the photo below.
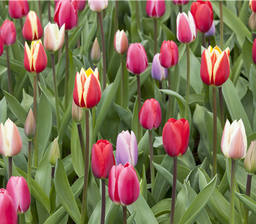
[[[3,25],[1,26],[1,35],[3,39],[3,43],[6,46],[10,46],[15,44],[16,41],[16,29],[10,20],[4,20]]]

